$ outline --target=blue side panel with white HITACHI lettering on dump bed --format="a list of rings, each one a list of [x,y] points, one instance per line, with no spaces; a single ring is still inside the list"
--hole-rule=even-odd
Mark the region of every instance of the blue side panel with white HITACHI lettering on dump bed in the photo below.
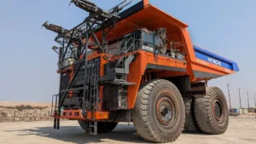
[[[234,62],[234,61],[227,60],[224,57],[215,55],[215,54],[207,51],[206,49],[201,49],[197,46],[194,46],[194,49],[195,49],[195,56],[198,59],[206,60],[212,64],[215,64],[217,66],[222,66],[224,68],[228,68],[232,71],[236,71],[236,72],[239,71],[239,68],[238,68],[236,62]]]

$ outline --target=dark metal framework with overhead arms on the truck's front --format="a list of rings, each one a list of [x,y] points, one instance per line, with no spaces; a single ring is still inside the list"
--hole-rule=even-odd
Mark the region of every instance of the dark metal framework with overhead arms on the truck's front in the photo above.
[[[91,76],[89,77],[88,74],[91,74],[92,71],[96,72],[96,69],[99,68],[96,67],[99,61],[94,61],[96,63],[89,65],[87,55],[90,50],[96,50],[99,53],[106,53],[108,34],[113,29],[116,22],[119,21],[119,12],[131,2],[132,0],[124,0],[122,3],[119,3],[112,9],[106,11],[97,7],[95,3],[91,3],[87,0],[72,0],[71,3],[90,13],[83,22],[81,22],[78,26],[74,26],[71,30],[64,29],[61,26],[49,24],[48,21],[43,24],[46,29],[58,33],[58,36],[55,37],[55,42],[60,43],[61,47],[54,47],[53,49],[55,49],[55,51],[59,54],[60,81],[62,81],[63,75],[65,74],[64,71],[67,69],[67,67],[72,65],[76,66],[73,78],[71,78],[66,89],[61,89],[60,82],[59,100],[58,103],[55,103],[55,106],[57,105],[57,110],[55,109],[56,115],[60,116],[61,105],[65,101],[65,98],[70,91],[75,90],[79,90],[84,93],[82,109],[84,118],[87,118],[87,110],[90,110],[90,112],[97,111],[97,107],[94,106],[97,105],[96,102],[99,97],[99,87],[97,84],[98,76],[96,77],[94,74],[93,78],[90,78]],[[100,37],[100,39],[96,37],[96,32],[102,33],[102,37]],[[59,51],[57,51],[57,49]],[[64,66],[63,63],[65,59],[70,56],[70,52],[73,52],[74,49],[77,50],[77,55],[83,55],[83,58],[78,56],[76,57],[76,62],[72,63],[71,65]],[[73,88],[74,79],[78,76],[78,73],[81,70],[84,71],[83,87]],[[91,80],[93,80],[93,82],[89,82]],[[90,85],[90,88],[88,85]],[[91,98],[92,93],[93,97]],[[94,114],[92,113],[92,115]],[[60,119],[55,118],[55,129],[59,129],[59,123]]]

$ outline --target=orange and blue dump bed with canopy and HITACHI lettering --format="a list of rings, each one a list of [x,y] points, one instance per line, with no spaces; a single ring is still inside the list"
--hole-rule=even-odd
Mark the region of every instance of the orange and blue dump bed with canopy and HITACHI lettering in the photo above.
[[[160,27],[166,27],[167,39],[184,45],[188,62],[187,73],[190,75],[191,81],[209,80],[239,71],[236,62],[194,46],[187,31],[188,25],[157,9],[149,4],[148,0],[135,4],[119,15],[121,20],[109,32],[109,41],[143,27],[149,31],[156,31]],[[102,33],[98,32],[97,37],[101,39]]]

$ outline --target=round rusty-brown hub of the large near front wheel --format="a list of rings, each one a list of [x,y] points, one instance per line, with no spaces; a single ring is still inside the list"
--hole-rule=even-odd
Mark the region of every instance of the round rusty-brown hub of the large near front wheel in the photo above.
[[[171,124],[174,114],[175,110],[172,101],[167,97],[161,98],[157,103],[157,118],[160,123],[164,125]]]

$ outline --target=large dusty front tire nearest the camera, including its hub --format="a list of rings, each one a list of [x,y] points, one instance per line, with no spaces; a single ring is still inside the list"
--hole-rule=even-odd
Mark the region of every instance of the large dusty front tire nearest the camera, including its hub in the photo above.
[[[172,142],[181,135],[185,123],[183,98],[167,80],[152,80],[137,94],[132,110],[133,124],[146,141]]]

